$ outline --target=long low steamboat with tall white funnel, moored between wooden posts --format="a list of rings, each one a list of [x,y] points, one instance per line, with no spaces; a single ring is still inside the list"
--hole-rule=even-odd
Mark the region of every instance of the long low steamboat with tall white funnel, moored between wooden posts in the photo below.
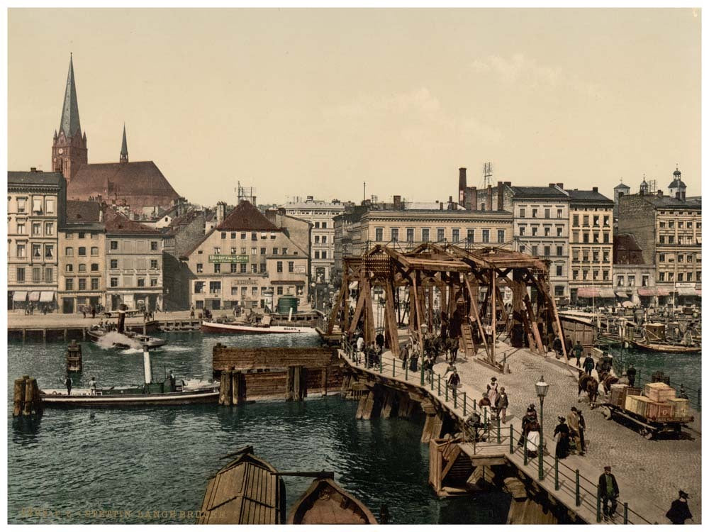
[[[207,382],[177,384],[170,374],[163,382],[152,382],[150,352],[143,350],[145,384],[111,386],[106,388],[74,388],[72,394],[65,389],[40,389],[40,401],[45,408],[123,408],[125,406],[167,406],[198,403],[216,403],[219,383]]]

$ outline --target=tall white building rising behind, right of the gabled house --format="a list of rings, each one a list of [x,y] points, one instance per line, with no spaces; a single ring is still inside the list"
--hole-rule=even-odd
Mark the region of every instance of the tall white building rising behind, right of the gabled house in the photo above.
[[[335,267],[335,216],[342,214],[345,206],[337,200],[323,201],[307,196],[306,201],[293,201],[283,208],[286,214],[313,224],[310,243],[311,281],[329,283]]]

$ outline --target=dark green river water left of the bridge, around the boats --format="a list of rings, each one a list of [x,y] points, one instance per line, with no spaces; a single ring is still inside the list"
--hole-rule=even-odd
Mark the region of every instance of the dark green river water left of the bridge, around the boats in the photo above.
[[[152,352],[153,371],[178,378],[211,378],[211,348],[227,345],[316,345],[308,336],[167,335]],[[220,456],[254,445],[255,454],[281,470],[332,470],[335,480],[379,516],[386,504],[393,523],[504,523],[504,494],[438,499],[428,486],[423,420],[354,419],[357,403],[339,397],[301,403],[194,405],[133,410],[52,410],[38,421],[12,418],[12,383],[21,375],[40,387],[62,387],[64,342],[8,347],[9,523],[194,523]],[[84,373],[101,385],[143,379],[138,351],[83,344]],[[287,504],[311,480],[285,477]],[[100,511],[123,511],[114,517]],[[130,511],[130,514],[128,514]],[[174,511],[174,515],[170,512]],[[182,516],[181,511],[185,514]],[[157,512],[155,517],[154,512]]]

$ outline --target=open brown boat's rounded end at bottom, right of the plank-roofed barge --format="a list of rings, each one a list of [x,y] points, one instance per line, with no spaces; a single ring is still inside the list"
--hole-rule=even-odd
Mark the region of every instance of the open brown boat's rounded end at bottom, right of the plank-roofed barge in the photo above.
[[[374,525],[371,511],[330,478],[318,478],[298,499],[289,525]]]

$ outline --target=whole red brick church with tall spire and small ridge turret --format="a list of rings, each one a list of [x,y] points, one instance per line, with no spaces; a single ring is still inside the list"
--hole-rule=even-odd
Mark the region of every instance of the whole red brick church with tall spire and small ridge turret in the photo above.
[[[89,164],[86,132],[82,133],[79,121],[79,101],[71,57],[62,119],[52,143],[52,170],[61,172],[67,180],[67,199],[96,199],[124,205],[138,217],[168,209],[179,197],[155,162],[128,161],[125,125],[118,162]]]

